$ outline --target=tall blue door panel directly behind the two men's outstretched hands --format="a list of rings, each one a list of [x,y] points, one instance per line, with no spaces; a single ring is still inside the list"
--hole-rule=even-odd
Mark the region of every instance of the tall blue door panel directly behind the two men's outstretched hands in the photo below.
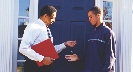
[[[86,33],[86,22],[84,21],[73,21],[71,22],[71,39],[76,40],[77,44],[72,49],[73,53],[82,55],[85,49],[85,34]]]

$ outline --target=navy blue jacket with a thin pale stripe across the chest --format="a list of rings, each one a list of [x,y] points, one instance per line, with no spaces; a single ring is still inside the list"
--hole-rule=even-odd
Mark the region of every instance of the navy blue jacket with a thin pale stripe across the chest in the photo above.
[[[116,40],[105,24],[95,27],[89,35],[84,72],[114,72]]]

